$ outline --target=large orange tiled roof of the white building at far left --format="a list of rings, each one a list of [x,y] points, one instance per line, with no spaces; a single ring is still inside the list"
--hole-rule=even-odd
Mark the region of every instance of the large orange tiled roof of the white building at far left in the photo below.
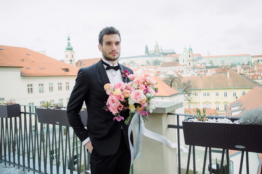
[[[21,67],[22,76],[76,76],[79,68],[27,48],[0,45],[0,67]],[[68,72],[62,67],[69,69]]]

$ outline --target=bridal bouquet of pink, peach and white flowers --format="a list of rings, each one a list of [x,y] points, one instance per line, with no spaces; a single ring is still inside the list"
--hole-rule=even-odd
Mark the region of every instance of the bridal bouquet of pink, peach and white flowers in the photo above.
[[[155,93],[158,88],[154,88],[156,82],[149,74],[137,76],[130,74],[127,70],[122,71],[122,76],[130,80],[129,83],[118,82],[115,86],[107,83],[104,86],[106,93],[109,95],[106,106],[103,109],[110,111],[115,115],[114,120],[124,120],[121,111],[130,111],[130,115],[125,120],[125,124],[129,124],[134,113],[137,111],[142,115],[143,120],[148,120],[148,112],[152,112],[156,108]]]

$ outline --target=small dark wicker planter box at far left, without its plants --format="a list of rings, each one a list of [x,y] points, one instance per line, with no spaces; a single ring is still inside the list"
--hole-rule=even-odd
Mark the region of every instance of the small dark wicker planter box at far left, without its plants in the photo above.
[[[20,105],[0,105],[0,117],[11,118],[20,116]]]

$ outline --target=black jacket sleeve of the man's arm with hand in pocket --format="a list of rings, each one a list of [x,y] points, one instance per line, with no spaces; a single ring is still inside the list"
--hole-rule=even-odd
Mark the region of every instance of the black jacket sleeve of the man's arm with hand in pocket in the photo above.
[[[67,105],[67,118],[75,134],[83,142],[89,137],[86,125],[81,121],[79,112],[83,106],[84,100],[89,90],[88,78],[83,69],[79,69],[75,86],[70,95]]]

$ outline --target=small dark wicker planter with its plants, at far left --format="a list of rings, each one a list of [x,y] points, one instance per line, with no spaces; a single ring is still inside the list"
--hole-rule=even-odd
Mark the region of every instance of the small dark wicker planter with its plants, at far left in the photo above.
[[[9,101],[2,101],[0,103],[0,117],[11,118],[20,116],[20,105],[15,103],[15,99]]]

